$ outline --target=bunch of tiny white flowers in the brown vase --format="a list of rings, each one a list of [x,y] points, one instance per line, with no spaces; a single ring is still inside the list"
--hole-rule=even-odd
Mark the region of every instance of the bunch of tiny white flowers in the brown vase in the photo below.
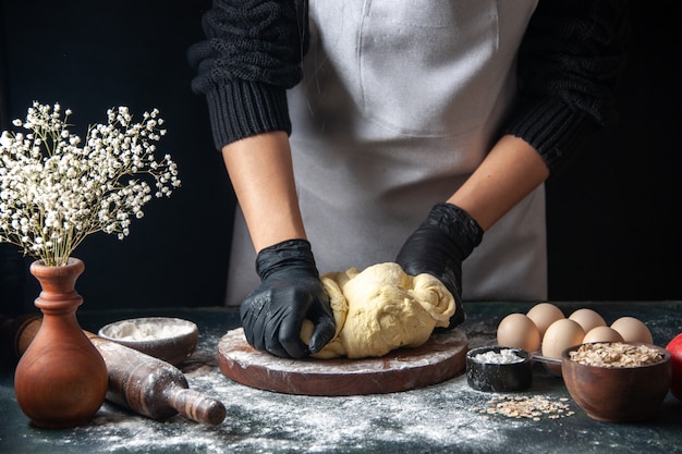
[[[166,134],[158,110],[133,123],[126,107],[110,109],[107,124],[88,127],[83,146],[69,131],[71,113],[36,101],[26,121],[13,122],[28,132],[0,137],[0,242],[48,266],[65,265],[92,233],[123,240],[153,194],[170,197],[180,186],[171,157],[154,156]]]

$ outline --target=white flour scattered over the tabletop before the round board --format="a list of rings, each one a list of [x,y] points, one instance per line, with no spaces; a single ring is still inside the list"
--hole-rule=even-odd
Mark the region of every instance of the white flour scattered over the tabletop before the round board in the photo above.
[[[203,426],[180,416],[160,422],[107,403],[90,425],[50,442],[97,453],[426,453],[458,445],[503,452],[514,429],[528,424],[480,415],[477,409],[491,395],[468,388],[464,375],[422,390],[364,396],[252,389],[227,379],[218,368],[216,343],[224,333],[202,334],[183,371],[192,389],[224,403],[228,414],[221,425]]]

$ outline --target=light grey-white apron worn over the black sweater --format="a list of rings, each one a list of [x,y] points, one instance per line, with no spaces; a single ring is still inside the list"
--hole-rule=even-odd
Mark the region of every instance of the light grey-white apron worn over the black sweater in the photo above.
[[[536,1],[310,1],[303,82],[289,93],[294,171],[320,273],[393,261],[494,144]],[[259,283],[238,209],[228,305]],[[547,298],[545,192],[485,233],[464,300]]]

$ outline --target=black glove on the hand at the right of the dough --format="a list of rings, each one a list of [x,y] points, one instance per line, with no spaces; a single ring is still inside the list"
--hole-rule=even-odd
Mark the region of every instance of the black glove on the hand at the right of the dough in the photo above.
[[[452,293],[456,309],[452,329],[464,321],[462,261],[483,240],[483,229],[466,211],[452,204],[437,204],[426,221],[407,238],[395,262],[410,275],[431,274]]]

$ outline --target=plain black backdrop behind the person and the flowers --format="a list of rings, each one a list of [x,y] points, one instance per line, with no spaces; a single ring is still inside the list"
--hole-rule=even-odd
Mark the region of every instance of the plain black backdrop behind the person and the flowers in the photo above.
[[[124,241],[88,237],[75,256],[88,309],[223,304],[234,197],[214,149],[207,108],[190,88],[187,47],[208,0],[3,0],[0,120],[34,100],[74,111],[81,136],[110,107],[158,108],[159,150],[183,186],[155,199]],[[674,1],[631,1],[620,123],[547,184],[551,300],[682,299],[680,34]],[[33,309],[31,259],[0,244],[0,312]]]

